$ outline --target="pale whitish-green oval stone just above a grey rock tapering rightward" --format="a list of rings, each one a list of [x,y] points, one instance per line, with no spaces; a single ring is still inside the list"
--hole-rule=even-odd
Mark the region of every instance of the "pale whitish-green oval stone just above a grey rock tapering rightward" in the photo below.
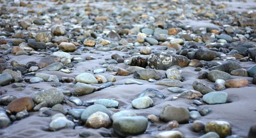
[[[75,77],[75,81],[76,82],[83,82],[83,83],[86,83],[86,84],[97,84],[98,83],[98,80],[90,73],[82,73],[80,75],[77,75]]]

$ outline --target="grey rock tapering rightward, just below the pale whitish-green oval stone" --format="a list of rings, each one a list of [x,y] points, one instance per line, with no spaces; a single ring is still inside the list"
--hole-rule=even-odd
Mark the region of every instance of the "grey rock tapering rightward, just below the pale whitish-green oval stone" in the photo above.
[[[94,91],[98,91],[100,88],[97,86],[92,86],[89,84],[77,82],[73,89],[74,89],[74,95],[82,96],[82,95],[93,93]]]

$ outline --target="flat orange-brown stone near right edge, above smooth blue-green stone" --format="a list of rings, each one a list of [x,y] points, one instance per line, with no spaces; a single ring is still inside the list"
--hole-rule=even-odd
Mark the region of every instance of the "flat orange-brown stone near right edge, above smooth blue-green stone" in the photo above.
[[[245,78],[234,78],[230,80],[226,80],[225,82],[226,88],[240,88],[248,86],[248,80]]]

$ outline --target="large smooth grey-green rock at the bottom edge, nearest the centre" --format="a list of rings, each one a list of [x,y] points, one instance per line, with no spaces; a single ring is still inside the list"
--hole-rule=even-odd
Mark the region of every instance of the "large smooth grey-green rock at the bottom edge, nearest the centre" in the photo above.
[[[122,137],[143,134],[147,126],[147,118],[143,116],[117,117],[117,119],[113,121],[114,132]]]

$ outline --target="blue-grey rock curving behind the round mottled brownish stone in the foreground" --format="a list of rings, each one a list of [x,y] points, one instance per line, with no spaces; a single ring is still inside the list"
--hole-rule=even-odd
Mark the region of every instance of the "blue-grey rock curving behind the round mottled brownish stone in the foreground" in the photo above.
[[[90,115],[92,115],[93,113],[98,112],[98,111],[104,112],[104,113],[106,113],[108,116],[111,115],[111,113],[109,112],[109,110],[108,110],[104,105],[101,105],[101,104],[93,104],[93,105],[87,107],[87,108],[83,111],[83,113],[82,113],[82,115],[81,115],[81,120],[82,120],[83,122],[86,122],[87,119],[88,119],[88,117],[90,117]]]

